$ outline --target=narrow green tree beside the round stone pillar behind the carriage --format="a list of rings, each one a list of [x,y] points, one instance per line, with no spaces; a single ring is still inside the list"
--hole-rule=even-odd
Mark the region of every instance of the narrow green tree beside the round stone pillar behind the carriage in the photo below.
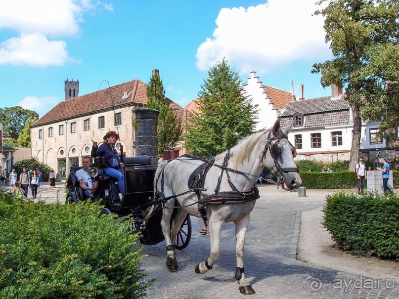
[[[159,110],[158,116],[158,159],[163,158],[168,151],[174,149],[182,133],[182,122],[177,111],[170,106],[165,97],[164,85],[158,73],[151,76],[147,85],[147,108]]]

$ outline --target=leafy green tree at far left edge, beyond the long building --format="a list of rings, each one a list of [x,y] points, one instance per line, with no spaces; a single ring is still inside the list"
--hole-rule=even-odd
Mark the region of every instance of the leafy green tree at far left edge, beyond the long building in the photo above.
[[[23,109],[20,106],[0,108],[0,123],[3,124],[3,136],[18,139],[25,125],[30,120],[38,120],[39,114],[35,111]]]

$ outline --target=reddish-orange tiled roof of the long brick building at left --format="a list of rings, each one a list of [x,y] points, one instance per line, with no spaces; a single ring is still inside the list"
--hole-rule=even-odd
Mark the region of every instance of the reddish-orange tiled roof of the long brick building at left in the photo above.
[[[33,124],[32,127],[66,120],[80,115],[91,114],[101,110],[109,110],[112,107],[145,104],[148,101],[146,90],[147,85],[135,79],[110,88],[74,97],[56,105]],[[125,92],[128,96],[123,98]],[[166,98],[166,100],[170,102],[172,108],[181,109],[175,102],[168,98]]]

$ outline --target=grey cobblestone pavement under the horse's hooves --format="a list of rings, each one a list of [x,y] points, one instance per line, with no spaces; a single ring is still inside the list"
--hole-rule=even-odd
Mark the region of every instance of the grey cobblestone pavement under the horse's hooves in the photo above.
[[[245,240],[246,278],[256,291],[253,298],[271,299],[398,299],[399,282],[381,277],[368,279],[361,273],[347,273],[312,265],[296,259],[301,212],[322,207],[323,199],[336,190],[307,190],[306,198],[297,192],[259,187],[261,198],[251,213]],[[222,229],[221,255],[211,271],[196,274],[194,267],[209,256],[209,235],[201,235],[202,219],[191,217],[193,235],[188,247],[176,252],[179,268],[166,268],[165,243],[144,246],[142,267],[156,282],[148,289],[150,299],[232,299],[247,298],[238,291],[234,279],[235,229],[227,223]],[[395,284],[396,283],[396,284]]]

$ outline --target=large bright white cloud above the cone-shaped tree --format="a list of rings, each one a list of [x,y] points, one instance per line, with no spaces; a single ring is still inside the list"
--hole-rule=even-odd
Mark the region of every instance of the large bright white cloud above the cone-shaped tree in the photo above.
[[[247,9],[222,8],[212,38],[197,49],[197,67],[225,57],[242,73],[271,71],[293,60],[328,55],[315,0],[269,0]]]

